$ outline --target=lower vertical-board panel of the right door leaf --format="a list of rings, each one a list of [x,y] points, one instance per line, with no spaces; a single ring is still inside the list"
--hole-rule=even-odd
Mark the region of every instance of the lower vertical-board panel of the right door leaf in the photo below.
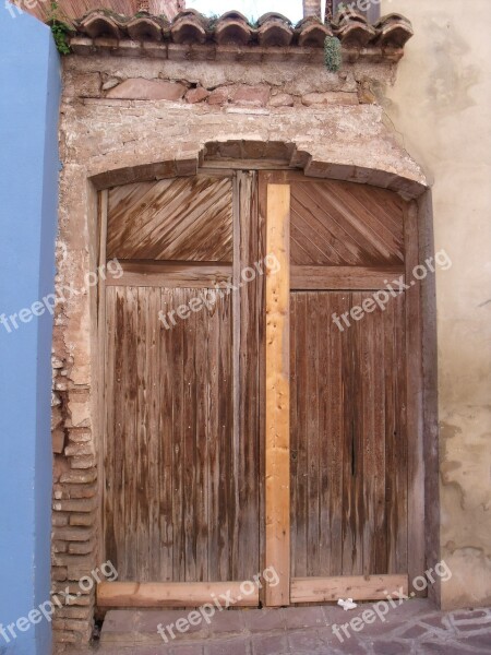
[[[405,296],[333,322],[371,297],[291,293],[292,577],[407,573]]]

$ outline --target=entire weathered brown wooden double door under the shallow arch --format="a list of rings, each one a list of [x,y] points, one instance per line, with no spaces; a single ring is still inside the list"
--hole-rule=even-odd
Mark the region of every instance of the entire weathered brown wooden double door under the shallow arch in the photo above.
[[[119,579],[99,605],[407,592],[423,570],[414,207],[208,170],[115,188],[101,214],[120,264],[101,289]],[[271,567],[277,584],[240,593]]]

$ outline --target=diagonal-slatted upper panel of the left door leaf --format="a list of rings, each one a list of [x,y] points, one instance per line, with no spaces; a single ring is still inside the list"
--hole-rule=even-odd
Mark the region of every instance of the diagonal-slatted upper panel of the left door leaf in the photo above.
[[[107,255],[231,262],[231,180],[195,176],[111,189]]]

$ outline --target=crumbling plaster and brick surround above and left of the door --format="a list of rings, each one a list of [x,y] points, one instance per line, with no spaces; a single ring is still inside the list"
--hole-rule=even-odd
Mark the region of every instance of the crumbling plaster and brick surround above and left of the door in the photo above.
[[[52,563],[53,588],[70,585],[79,593],[80,577],[104,561],[97,388],[103,362],[97,288],[86,285],[86,274],[97,266],[96,190],[193,175],[211,142],[209,153],[221,158],[278,158],[309,175],[374,183],[406,196],[419,196],[427,187],[369,92],[370,81],[391,84],[390,63],[360,61],[333,74],[320,64],[291,61],[93,55],[70,56],[63,67],[57,282],[64,299],[57,308],[53,345]],[[82,593],[58,611],[58,642],[88,640],[94,603],[94,591]]]

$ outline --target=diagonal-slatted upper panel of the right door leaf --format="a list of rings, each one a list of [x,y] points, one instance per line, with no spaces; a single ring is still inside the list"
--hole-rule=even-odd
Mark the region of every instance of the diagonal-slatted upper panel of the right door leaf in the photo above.
[[[404,263],[403,201],[384,189],[291,181],[291,265]]]

